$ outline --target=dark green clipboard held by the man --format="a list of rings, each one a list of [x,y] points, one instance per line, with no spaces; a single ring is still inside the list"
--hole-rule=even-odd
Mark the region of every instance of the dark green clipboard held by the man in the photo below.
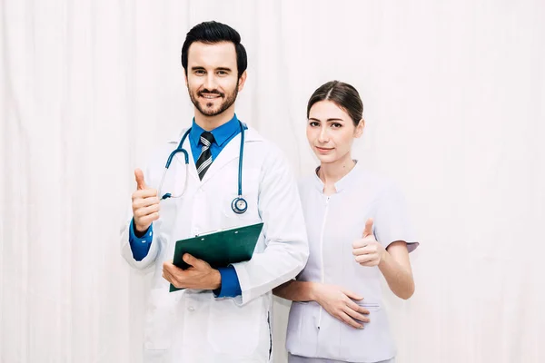
[[[213,269],[251,260],[262,229],[263,222],[177,240],[173,264],[183,270],[189,268],[182,259],[184,253],[205,260]],[[177,290],[170,285],[170,292]]]

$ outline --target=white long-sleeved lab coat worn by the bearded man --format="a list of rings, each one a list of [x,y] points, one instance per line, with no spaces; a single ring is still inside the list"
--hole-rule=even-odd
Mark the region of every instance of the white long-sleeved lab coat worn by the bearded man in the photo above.
[[[183,131],[185,132],[185,131]],[[144,172],[157,188],[164,163],[183,133],[154,153]],[[306,230],[297,184],[282,153],[253,129],[245,131],[243,197],[248,210],[235,214],[231,202],[238,190],[240,137],[216,157],[199,180],[189,140],[187,190],[182,198],[161,201],[160,219],[144,260],[136,261],[129,245],[130,218],[121,231],[124,259],[136,269],[154,268],[144,327],[144,362],[267,362],[272,351],[271,290],[294,278],[308,257]],[[174,157],[164,192],[179,194],[185,180],[183,153]],[[263,221],[252,260],[233,264],[242,296],[216,299],[210,290],[169,292],[163,261],[173,259],[176,240],[206,231]]]

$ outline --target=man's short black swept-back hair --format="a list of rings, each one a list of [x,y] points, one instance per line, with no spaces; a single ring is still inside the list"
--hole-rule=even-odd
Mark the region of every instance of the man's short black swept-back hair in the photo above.
[[[194,42],[201,42],[205,44],[216,44],[220,42],[231,42],[234,44],[236,50],[236,65],[238,68],[238,77],[246,70],[248,66],[248,57],[243,44],[241,44],[241,34],[238,34],[229,25],[224,25],[218,22],[203,22],[201,24],[193,26],[193,28],[186,34],[185,42],[182,46],[182,66],[185,74],[187,75],[187,53],[189,47]]]

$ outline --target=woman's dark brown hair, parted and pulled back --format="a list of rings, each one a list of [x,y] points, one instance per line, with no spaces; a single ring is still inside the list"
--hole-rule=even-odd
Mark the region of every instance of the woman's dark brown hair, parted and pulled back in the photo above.
[[[339,81],[330,81],[322,84],[312,93],[307,105],[307,119],[314,103],[320,101],[331,101],[341,107],[350,118],[354,125],[358,125],[363,117],[363,103],[360,93],[348,83]]]

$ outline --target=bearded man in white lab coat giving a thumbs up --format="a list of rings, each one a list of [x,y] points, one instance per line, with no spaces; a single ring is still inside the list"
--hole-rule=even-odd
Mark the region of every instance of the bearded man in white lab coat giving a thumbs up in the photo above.
[[[270,361],[271,290],[294,278],[308,257],[301,202],[287,162],[234,113],[246,80],[240,42],[233,28],[216,22],[190,30],[182,48],[194,105],[192,128],[182,145],[188,169],[178,152],[163,174],[184,131],[154,153],[145,174],[134,172],[133,216],[124,224],[121,244],[131,266],[154,268],[145,362]],[[242,136],[242,197],[247,204],[240,205],[246,207],[240,213],[233,201],[239,196]],[[172,197],[160,201],[167,193]],[[172,264],[176,240],[261,221],[263,233],[252,260],[214,270],[185,254],[190,268]],[[170,283],[183,289],[169,292]]]

